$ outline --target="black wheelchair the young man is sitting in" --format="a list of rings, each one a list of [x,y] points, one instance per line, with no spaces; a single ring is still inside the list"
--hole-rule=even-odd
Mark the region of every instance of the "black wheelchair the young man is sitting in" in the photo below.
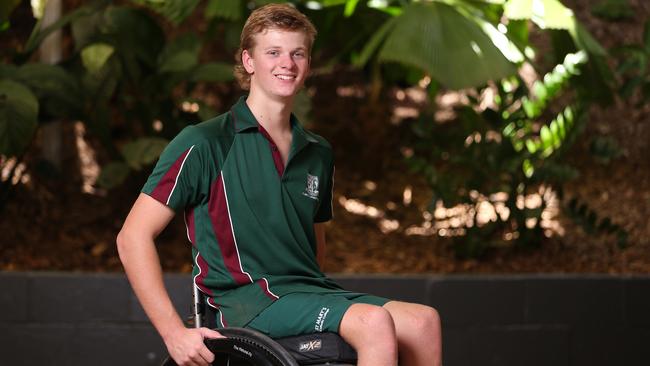
[[[206,317],[210,312],[205,296],[194,286],[194,305],[190,323],[195,328],[214,324]],[[354,366],[356,351],[336,333],[313,333],[294,337],[271,339],[246,328],[218,329],[226,338],[206,339],[205,344],[214,353],[215,366]],[[162,366],[175,366],[171,357]]]

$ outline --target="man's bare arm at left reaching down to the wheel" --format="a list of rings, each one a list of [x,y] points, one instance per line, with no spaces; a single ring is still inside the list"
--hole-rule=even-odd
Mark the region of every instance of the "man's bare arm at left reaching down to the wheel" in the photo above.
[[[117,248],[135,295],[179,365],[207,365],[214,355],[203,338],[219,337],[206,328],[187,329],[165,289],[155,238],[174,217],[174,211],[140,194],[117,236]]]

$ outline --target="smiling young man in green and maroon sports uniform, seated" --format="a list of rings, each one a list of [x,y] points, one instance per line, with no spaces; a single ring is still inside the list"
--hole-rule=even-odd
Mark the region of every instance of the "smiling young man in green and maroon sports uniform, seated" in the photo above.
[[[288,5],[254,11],[236,74],[250,89],[232,109],[185,128],[162,153],[117,238],[145,312],[180,365],[207,365],[207,328],[187,329],[162,280],[154,239],[183,212],[194,285],[217,328],[272,337],[338,332],[358,365],[440,365],[437,312],[343,290],[320,264],[332,216],[333,154],[291,114],[316,30]],[[319,264],[320,263],[320,264]]]

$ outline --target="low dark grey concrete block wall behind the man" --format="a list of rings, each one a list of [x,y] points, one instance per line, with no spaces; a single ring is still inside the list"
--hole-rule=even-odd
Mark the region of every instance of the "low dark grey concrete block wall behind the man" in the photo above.
[[[446,366],[650,365],[650,276],[332,277],[436,307]],[[189,314],[190,276],[165,281]],[[165,355],[122,274],[0,273],[0,365],[158,365]]]

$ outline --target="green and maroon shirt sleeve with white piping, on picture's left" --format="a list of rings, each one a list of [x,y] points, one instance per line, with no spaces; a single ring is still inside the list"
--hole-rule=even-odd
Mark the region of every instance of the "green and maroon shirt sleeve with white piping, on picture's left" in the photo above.
[[[194,206],[200,194],[201,159],[192,127],[181,131],[163,150],[142,192],[174,211]]]

